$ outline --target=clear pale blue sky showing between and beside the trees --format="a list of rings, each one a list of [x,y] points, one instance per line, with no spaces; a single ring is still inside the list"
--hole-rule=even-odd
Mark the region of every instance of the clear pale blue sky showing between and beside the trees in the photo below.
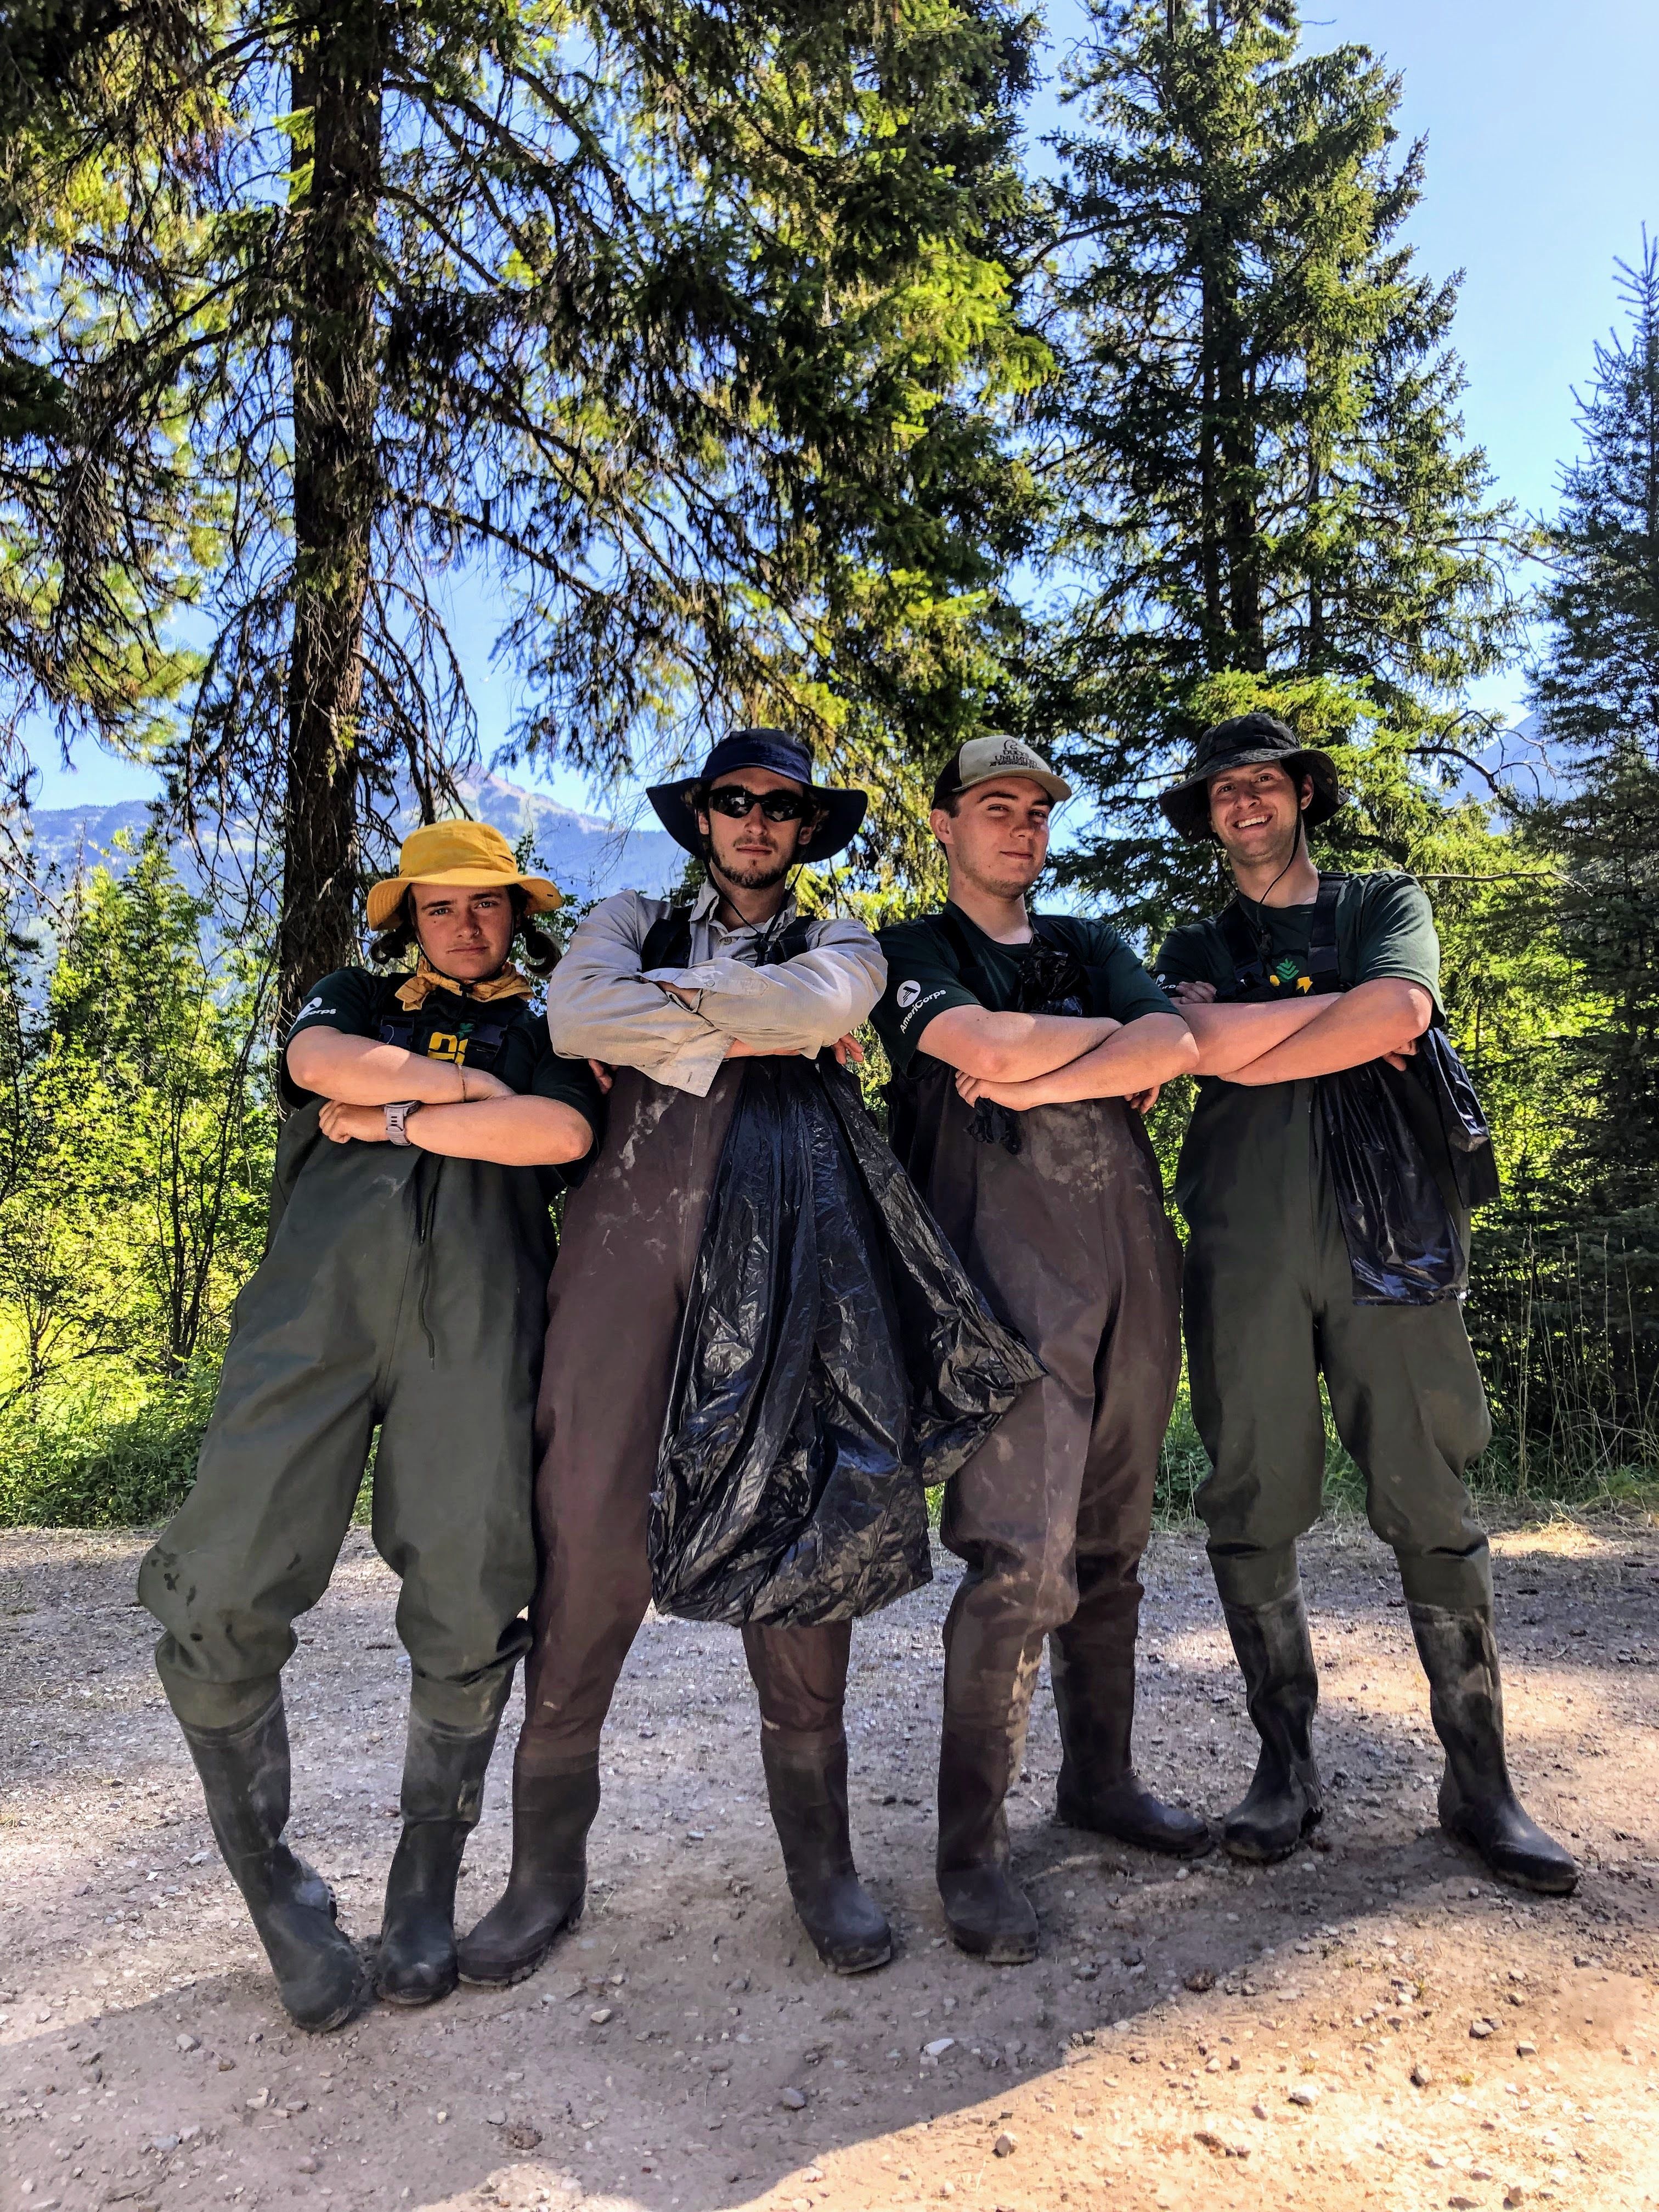
[[[1084,27],[1077,0],[1048,0],[1051,60]],[[1356,40],[1405,77],[1407,135],[1429,139],[1411,243],[1431,274],[1464,270],[1455,345],[1469,372],[1464,420],[1500,489],[1528,511],[1551,504],[1573,451],[1571,387],[1617,319],[1615,259],[1641,226],[1659,230],[1659,7],[1655,0],[1327,0],[1307,42]],[[1053,86],[1033,133],[1057,119]],[[482,599],[465,595],[484,613]],[[511,679],[489,670],[480,628],[467,655],[487,748],[511,717]],[[1520,679],[1480,703],[1515,708]],[[584,805],[577,779],[544,779]],[[150,779],[88,752],[51,768],[40,805],[148,796]]]

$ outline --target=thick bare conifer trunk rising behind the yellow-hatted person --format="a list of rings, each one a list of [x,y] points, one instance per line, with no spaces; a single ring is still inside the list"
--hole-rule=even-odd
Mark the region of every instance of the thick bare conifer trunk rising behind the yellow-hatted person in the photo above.
[[[294,69],[312,115],[294,301],[294,646],[288,666],[279,1024],[356,949],[363,606],[378,504],[374,416],[380,9],[325,0]]]

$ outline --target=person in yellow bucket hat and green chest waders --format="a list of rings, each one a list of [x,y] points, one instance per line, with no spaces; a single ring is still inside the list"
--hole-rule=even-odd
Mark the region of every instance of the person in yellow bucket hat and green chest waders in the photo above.
[[[509,960],[518,942],[526,969],[553,969],[538,916],[557,905],[498,830],[465,821],[411,832],[372,887],[374,967],[314,984],[283,1042],[265,1259],[237,1301],[195,1489],[139,1573],[219,1849],[310,2031],[349,2020],[369,1982],[327,1885],[283,1843],[281,1670],[372,1449],[409,1655],[374,1989],[427,2004],[456,1982],[460,1856],[535,1586],[549,1199],[604,1121],[591,1068],[553,1053]]]

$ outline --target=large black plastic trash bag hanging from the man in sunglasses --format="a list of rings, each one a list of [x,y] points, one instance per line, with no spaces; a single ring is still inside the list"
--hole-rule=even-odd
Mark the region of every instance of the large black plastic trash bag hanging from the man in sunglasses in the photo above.
[[[953,1475],[1042,1371],[834,1060],[757,1060],[664,1420],[659,1610],[805,1626],[929,1582],[922,1484]]]

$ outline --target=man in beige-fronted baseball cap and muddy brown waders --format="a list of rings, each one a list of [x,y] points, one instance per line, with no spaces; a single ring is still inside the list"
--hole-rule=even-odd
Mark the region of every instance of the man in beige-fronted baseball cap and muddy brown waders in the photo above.
[[[1037,1949],[1004,1798],[1044,1637],[1060,1818],[1177,1856],[1210,1840],[1130,1759],[1137,1568],[1181,1365],[1179,1252],[1133,1102],[1199,1055],[1115,929],[1026,909],[1068,796],[1018,739],[962,745],[931,810],[949,900],[880,938],[894,1148],[1048,1369],[949,1484],[940,1526],[967,1573],[945,1624],[938,1885],[956,1942],[993,1964]]]

